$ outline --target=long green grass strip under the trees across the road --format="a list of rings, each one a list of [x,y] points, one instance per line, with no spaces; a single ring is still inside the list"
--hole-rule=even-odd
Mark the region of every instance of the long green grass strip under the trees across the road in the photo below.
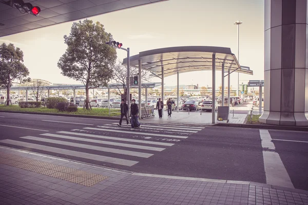
[[[0,110],[3,111],[18,111],[18,112],[39,112],[39,113],[57,113],[57,114],[71,114],[71,115],[90,115],[90,116],[109,116],[108,108],[93,108],[92,110],[86,110],[78,108],[77,112],[61,112],[57,109],[48,108],[20,108],[19,106],[5,106],[0,105]],[[120,109],[112,109],[110,112],[120,111]],[[110,113],[110,116],[119,116],[121,113]]]

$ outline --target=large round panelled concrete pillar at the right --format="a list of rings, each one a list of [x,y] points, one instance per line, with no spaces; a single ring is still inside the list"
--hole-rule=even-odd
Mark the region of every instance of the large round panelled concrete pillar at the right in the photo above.
[[[260,122],[308,126],[307,0],[265,0],[264,8],[264,112]]]

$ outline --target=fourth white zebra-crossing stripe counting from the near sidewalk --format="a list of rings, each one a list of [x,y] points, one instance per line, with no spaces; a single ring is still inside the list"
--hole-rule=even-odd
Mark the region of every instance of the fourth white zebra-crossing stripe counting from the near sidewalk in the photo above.
[[[175,144],[166,143],[166,142],[145,141],[145,140],[139,140],[139,139],[126,139],[126,138],[120,138],[120,137],[107,137],[107,136],[101,136],[101,135],[93,135],[93,134],[85,134],[85,133],[75,133],[75,132],[66,132],[66,131],[60,131],[58,133],[72,134],[72,135],[78,135],[78,136],[87,136],[87,137],[96,137],[96,138],[102,138],[102,139],[119,140],[119,141],[130,141],[130,142],[137,142],[137,143],[149,144],[149,145],[161,145],[161,146],[172,146],[172,145],[175,145]]]

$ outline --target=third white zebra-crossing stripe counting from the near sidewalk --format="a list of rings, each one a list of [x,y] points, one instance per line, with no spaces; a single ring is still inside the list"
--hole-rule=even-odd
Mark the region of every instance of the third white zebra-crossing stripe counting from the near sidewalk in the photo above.
[[[79,140],[79,141],[88,141],[88,142],[94,142],[94,143],[104,144],[104,145],[113,145],[113,146],[119,146],[119,147],[142,149],[142,150],[151,150],[151,151],[159,151],[159,152],[165,150],[165,148],[156,148],[156,147],[148,147],[148,146],[141,146],[141,145],[132,145],[132,144],[113,142],[113,141],[102,141],[102,140],[97,140],[97,139],[86,139],[86,138],[71,137],[71,136],[66,136],[66,135],[56,135],[56,134],[48,134],[48,133],[41,134],[41,135],[49,136],[49,137],[63,138],[63,139],[73,139],[73,140]]]

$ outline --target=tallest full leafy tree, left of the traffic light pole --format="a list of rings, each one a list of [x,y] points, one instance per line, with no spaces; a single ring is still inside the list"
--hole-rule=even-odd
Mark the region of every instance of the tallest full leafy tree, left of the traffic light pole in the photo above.
[[[73,23],[70,35],[64,36],[67,45],[57,66],[61,73],[69,78],[81,81],[86,87],[85,107],[89,109],[89,89],[107,87],[112,77],[112,68],[117,58],[117,51],[106,42],[112,40],[104,26],[85,19]]]

